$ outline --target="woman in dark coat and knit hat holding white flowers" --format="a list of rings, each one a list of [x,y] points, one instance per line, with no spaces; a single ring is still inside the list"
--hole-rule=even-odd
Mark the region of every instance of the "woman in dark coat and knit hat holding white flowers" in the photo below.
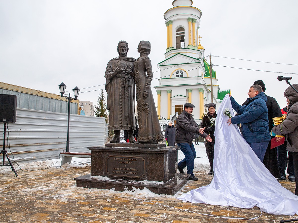
[[[214,158],[214,144],[215,144],[215,136],[214,136],[214,129],[215,129],[215,120],[216,119],[216,112],[215,112],[216,104],[209,103],[208,104],[208,112],[202,119],[201,128],[205,127],[205,133],[210,134],[212,138],[212,142],[206,142],[206,152],[209,159],[210,164],[210,171],[208,175],[214,175],[213,172],[213,158]],[[211,126],[212,121],[212,126]]]

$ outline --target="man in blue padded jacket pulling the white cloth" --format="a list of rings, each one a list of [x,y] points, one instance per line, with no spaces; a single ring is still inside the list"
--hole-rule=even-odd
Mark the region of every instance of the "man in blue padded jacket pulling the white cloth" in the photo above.
[[[240,115],[229,118],[227,123],[229,125],[241,123],[243,138],[263,162],[271,139],[268,127],[267,97],[258,84],[252,85],[247,94],[249,95],[248,103],[244,106],[239,105],[230,95],[232,107]]]

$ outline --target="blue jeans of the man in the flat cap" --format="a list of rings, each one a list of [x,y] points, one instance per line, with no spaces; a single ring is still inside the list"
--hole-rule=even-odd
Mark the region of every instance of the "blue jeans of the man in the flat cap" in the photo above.
[[[189,145],[188,143],[177,143],[178,146],[180,146],[181,152],[184,154],[185,158],[181,160],[178,164],[178,166],[181,169],[184,169],[184,167],[187,167],[187,174],[190,174],[194,176],[193,174],[193,168],[195,167],[195,157],[197,154],[195,153],[195,147],[193,143]]]

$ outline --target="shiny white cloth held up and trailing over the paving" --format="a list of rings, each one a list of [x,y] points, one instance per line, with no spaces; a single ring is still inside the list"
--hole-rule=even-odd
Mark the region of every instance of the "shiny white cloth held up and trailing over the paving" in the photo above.
[[[217,112],[213,180],[178,199],[239,208],[257,206],[276,215],[298,214],[298,196],[280,185],[243,139],[237,125],[228,126],[225,108],[234,116],[229,95]]]

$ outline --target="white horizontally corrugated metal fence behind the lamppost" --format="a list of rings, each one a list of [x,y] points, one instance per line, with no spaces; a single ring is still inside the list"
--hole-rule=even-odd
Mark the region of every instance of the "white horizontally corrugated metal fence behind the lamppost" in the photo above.
[[[7,125],[9,131],[6,131],[5,150],[11,160],[13,157],[10,151],[16,161],[54,159],[59,158],[62,150],[66,152],[67,114],[17,108],[16,123]],[[70,114],[69,151],[90,152],[87,146],[104,145],[105,125],[103,117]],[[3,131],[4,125],[0,123],[1,150]]]

